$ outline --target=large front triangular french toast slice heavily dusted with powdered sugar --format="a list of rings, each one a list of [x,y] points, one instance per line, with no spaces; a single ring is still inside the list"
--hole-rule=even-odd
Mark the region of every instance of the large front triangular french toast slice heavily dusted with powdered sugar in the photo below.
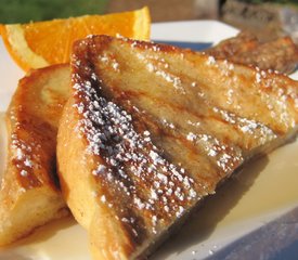
[[[254,156],[297,132],[298,82],[152,42],[75,43],[57,134],[93,259],[144,259]]]

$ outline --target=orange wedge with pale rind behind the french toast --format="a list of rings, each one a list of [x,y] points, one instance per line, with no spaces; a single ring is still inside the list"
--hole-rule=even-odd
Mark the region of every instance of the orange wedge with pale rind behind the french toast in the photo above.
[[[24,70],[69,62],[73,42],[88,35],[119,34],[148,40],[150,28],[147,8],[107,15],[0,26],[9,53]]]

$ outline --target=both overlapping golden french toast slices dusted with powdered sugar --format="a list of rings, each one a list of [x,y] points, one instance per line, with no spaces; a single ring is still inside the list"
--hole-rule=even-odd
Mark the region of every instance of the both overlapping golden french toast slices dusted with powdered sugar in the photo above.
[[[295,136],[298,82],[208,52],[91,36],[70,65],[20,81],[7,123],[1,245],[69,208],[93,259],[144,259],[231,174]]]

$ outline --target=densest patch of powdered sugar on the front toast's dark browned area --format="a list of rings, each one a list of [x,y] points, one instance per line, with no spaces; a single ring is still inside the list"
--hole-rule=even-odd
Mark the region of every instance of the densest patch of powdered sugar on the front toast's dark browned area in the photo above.
[[[74,108],[81,117],[77,131],[88,140],[87,152],[104,159],[92,173],[129,197],[130,207],[145,210],[152,218],[181,216],[183,207],[197,196],[194,180],[163,156],[150,131],[138,131],[131,115],[99,94],[101,82],[95,77],[85,80],[73,74],[73,82],[79,101]],[[148,193],[144,194],[142,186]],[[101,197],[101,202],[108,199]],[[152,222],[153,232],[160,221]]]

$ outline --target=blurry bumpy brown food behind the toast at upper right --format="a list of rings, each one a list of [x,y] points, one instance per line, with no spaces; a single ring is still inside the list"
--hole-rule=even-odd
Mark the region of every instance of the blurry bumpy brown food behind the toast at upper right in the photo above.
[[[206,50],[206,53],[216,58],[285,74],[293,73],[298,65],[298,48],[289,37],[260,42],[252,34],[243,31]]]

